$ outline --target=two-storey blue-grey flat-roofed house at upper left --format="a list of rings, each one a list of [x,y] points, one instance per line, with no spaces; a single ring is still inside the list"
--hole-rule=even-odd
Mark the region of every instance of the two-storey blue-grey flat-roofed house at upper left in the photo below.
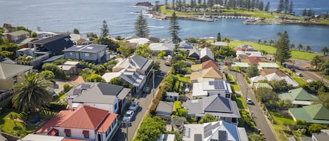
[[[100,62],[106,62],[106,45],[77,45],[70,48],[66,48],[64,52],[66,59],[83,60],[87,62],[93,62],[98,64]]]

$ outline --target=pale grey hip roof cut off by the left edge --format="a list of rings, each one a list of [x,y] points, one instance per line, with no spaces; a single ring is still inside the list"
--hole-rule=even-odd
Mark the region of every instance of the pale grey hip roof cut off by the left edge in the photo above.
[[[32,66],[15,65],[0,62],[0,79],[8,79],[32,69]]]

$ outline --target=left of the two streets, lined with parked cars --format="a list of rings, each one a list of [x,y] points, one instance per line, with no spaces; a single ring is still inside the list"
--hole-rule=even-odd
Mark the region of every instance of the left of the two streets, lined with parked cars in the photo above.
[[[158,74],[154,77],[154,87],[156,88],[155,92],[157,93],[157,90],[159,89],[159,84],[161,83],[162,79],[168,71],[170,70],[170,67],[164,65],[165,60],[154,58],[154,61],[159,61],[160,63],[160,70]],[[147,87],[152,88],[152,79],[149,79],[149,82],[147,82]],[[135,118],[133,118],[133,121],[129,123],[128,125],[128,140],[133,140],[133,137],[137,133],[137,129],[140,126],[140,123],[142,122],[142,119],[144,119],[144,116],[148,113],[149,108],[152,105],[153,97],[153,90],[150,90],[149,93],[138,93],[137,95],[133,95],[133,98],[135,100],[140,102],[140,109],[138,110],[137,114],[135,114]],[[112,138],[113,141],[116,140],[127,140],[127,128],[126,123],[122,123],[121,128],[116,131],[116,134]]]

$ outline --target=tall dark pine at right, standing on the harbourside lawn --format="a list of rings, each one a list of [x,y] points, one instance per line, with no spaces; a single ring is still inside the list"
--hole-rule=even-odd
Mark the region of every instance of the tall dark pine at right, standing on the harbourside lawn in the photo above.
[[[289,50],[289,36],[287,31],[278,32],[278,40],[275,43],[276,47],[276,61],[280,62],[281,65],[283,62],[286,62],[289,58],[291,58],[291,51]]]

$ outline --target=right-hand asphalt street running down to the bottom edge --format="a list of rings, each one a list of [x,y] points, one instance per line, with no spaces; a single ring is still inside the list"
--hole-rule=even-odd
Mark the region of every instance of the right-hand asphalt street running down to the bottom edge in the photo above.
[[[225,72],[228,72],[234,77],[237,76],[236,81],[238,82],[243,97],[251,98],[251,100],[253,100],[253,102],[255,103],[255,105],[247,105],[247,106],[249,111],[253,112],[253,117],[256,127],[262,130],[262,133],[264,133],[264,137],[266,138],[266,140],[276,141],[276,135],[274,133],[274,130],[273,131],[271,130],[271,125],[267,122],[267,119],[264,116],[262,109],[260,109],[260,106],[258,105],[253,90],[249,88],[246,79],[244,79],[243,75],[240,73],[231,72],[231,71],[225,71]]]

